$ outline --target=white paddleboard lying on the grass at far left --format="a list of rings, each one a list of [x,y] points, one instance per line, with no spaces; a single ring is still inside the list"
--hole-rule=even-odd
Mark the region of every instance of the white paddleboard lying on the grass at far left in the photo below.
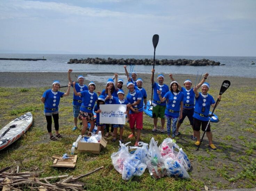
[[[7,124],[0,130],[0,150],[17,141],[32,125],[32,114],[26,113]]]

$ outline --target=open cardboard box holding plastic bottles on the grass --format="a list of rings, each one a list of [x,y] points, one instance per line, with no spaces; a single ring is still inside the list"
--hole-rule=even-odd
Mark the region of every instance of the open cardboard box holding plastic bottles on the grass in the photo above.
[[[88,142],[78,142],[77,150],[79,152],[89,152],[89,153],[99,153],[102,147],[106,147],[107,141],[101,138],[99,143],[88,143]]]

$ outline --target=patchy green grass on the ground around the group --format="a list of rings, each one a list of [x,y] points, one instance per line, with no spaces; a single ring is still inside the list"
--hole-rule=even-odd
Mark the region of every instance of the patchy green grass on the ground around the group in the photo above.
[[[209,93],[216,99],[221,83],[212,80],[212,84],[213,88],[209,90]],[[150,83],[144,86],[150,89]],[[214,144],[217,146],[216,151],[207,147],[206,136],[199,151],[196,151],[194,141],[190,139],[191,126],[188,119],[185,119],[180,128],[181,135],[176,139],[177,144],[183,148],[192,164],[189,172],[190,178],[184,180],[170,177],[154,180],[147,169],[140,177],[135,176],[129,181],[122,180],[122,176],[114,169],[110,158],[110,155],[117,152],[119,147],[118,141],[111,142],[112,138],[106,138],[107,146],[99,154],[78,153],[76,150],[78,160],[74,169],[50,167],[53,163],[51,158],[53,155],[62,156],[63,153],[70,153],[72,143],[80,134],[81,125],[77,131],[71,130],[73,127],[71,89],[71,94],[62,98],[59,105],[59,132],[64,138],[58,141],[49,139],[46,119],[43,115],[43,104],[40,101],[42,93],[49,88],[0,87],[1,127],[28,111],[33,114],[34,118],[33,125],[18,141],[0,151],[0,168],[18,165],[21,171],[33,172],[35,169],[43,171],[40,176],[46,177],[64,174],[75,176],[104,166],[101,171],[80,180],[86,183],[88,190],[202,190],[205,185],[209,189],[254,188],[256,186],[255,84],[254,86],[242,84],[232,86],[231,81],[231,87],[223,94],[215,110],[220,122],[211,123]],[[66,91],[66,88],[61,91]],[[152,118],[144,114],[143,120],[141,141],[149,143],[153,136],[161,143],[167,137],[166,134],[151,132]],[[129,134],[130,129],[126,124],[123,135],[125,142],[130,141]],[[130,146],[133,146],[134,142],[135,139],[131,139]]]

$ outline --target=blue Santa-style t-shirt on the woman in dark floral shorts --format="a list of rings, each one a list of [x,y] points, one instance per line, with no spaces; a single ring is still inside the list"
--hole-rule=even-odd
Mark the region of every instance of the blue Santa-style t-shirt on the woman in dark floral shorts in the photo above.
[[[93,113],[93,107],[98,99],[97,94],[95,92],[91,93],[88,90],[81,91],[80,93],[83,98],[80,110],[87,113]]]

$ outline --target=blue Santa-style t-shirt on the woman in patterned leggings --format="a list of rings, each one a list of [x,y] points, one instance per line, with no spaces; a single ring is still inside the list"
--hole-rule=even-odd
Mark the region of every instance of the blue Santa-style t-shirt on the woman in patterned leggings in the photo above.
[[[178,93],[168,91],[164,97],[168,100],[165,109],[165,114],[172,117],[178,117],[184,94],[181,91]],[[171,112],[170,110],[173,112]]]

